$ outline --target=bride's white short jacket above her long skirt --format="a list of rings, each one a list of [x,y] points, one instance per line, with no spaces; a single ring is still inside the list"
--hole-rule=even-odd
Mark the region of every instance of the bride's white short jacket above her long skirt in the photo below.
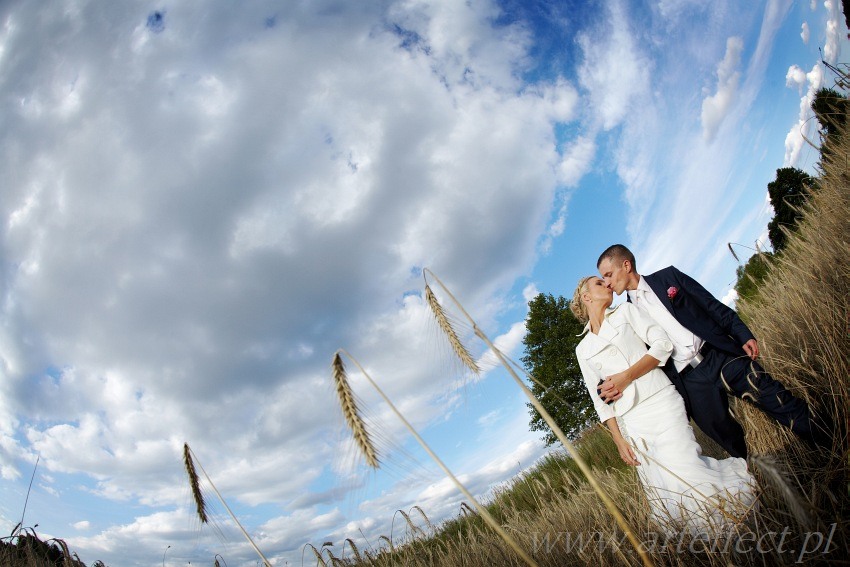
[[[589,330],[590,324],[585,332]],[[648,353],[660,361],[659,366],[673,352],[667,333],[649,315],[631,303],[623,303],[606,314],[598,335],[588,332],[576,347],[584,383],[600,421],[623,415],[641,400],[670,385],[661,368],[653,368],[629,384],[623,390],[623,397],[610,405],[596,393],[599,380],[622,372],[643,358],[647,345]]]

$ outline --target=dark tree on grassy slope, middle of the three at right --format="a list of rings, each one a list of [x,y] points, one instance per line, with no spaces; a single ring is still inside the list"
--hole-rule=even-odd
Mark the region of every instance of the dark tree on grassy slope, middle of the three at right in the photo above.
[[[796,167],[776,170],[776,179],[767,184],[773,218],[767,224],[767,234],[774,252],[785,248],[787,236],[781,227],[794,231],[803,217],[802,207],[809,197],[813,179]]]

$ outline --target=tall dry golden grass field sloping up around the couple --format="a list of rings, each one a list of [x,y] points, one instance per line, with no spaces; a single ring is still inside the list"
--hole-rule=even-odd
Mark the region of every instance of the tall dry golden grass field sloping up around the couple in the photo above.
[[[586,431],[577,442],[579,452],[655,565],[850,564],[847,129],[830,143],[804,220],[786,250],[772,260],[758,295],[738,310],[759,338],[764,366],[834,424],[832,451],[809,448],[757,409],[734,400],[759,485],[758,508],[715,540],[684,534],[665,538],[654,531],[635,471],[620,461],[607,432],[600,427]],[[699,432],[698,438],[706,454],[719,455]],[[553,454],[515,478],[487,508],[539,565],[643,563],[566,454]],[[402,516],[407,522],[402,541],[384,537],[383,548],[364,551],[346,540],[341,557],[325,549],[318,561],[423,567],[525,564],[471,507],[436,527],[421,510]]]

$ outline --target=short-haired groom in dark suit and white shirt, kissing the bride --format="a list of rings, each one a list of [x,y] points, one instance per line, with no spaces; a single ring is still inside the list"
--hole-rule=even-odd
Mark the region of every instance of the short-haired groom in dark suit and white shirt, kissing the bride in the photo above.
[[[696,280],[673,266],[641,276],[634,254],[622,244],[608,247],[596,267],[614,293],[628,291],[628,301],[667,332],[674,348],[664,371],[688,415],[731,456],[746,458],[747,445],[729,413],[727,392],[753,402],[803,439],[820,440],[806,403],[756,362],[759,346],[752,332]],[[626,385],[607,381],[601,395],[616,400]]]

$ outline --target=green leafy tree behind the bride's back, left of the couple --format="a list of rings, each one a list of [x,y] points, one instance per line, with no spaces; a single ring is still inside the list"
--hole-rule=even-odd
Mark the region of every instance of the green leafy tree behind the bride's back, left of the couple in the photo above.
[[[575,348],[584,325],[579,323],[563,297],[539,294],[529,304],[522,361],[529,374],[542,384],[532,383],[531,391],[558,426],[574,438],[597,419],[584,385]],[[540,413],[528,404],[532,431],[545,432],[547,445],[557,439]]]

